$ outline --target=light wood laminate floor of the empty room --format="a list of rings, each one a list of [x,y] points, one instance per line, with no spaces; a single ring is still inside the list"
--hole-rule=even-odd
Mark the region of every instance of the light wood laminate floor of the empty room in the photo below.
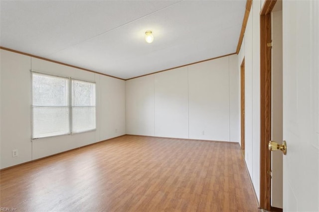
[[[256,212],[239,145],[125,135],[1,171],[19,212]]]

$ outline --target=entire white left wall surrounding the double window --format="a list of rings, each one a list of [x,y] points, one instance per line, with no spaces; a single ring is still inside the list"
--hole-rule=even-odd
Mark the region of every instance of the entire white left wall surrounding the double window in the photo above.
[[[31,142],[30,70],[96,82],[97,129]],[[3,91],[9,91],[3,93]],[[1,167],[63,152],[126,133],[125,81],[1,50]],[[18,133],[17,133],[18,132]],[[12,157],[13,149],[18,157]]]

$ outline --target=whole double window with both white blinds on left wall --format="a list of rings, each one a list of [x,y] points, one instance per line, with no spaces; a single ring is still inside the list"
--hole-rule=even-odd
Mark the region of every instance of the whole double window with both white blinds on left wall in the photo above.
[[[94,130],[95,120],[95,83],[32,72],[32,139]]]

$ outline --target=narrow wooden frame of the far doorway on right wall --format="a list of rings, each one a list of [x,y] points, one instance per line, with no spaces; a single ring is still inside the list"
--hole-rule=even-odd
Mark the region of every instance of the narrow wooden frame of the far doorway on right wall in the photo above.
[[[240,148],[245,150],[245,57],[240,65]]]

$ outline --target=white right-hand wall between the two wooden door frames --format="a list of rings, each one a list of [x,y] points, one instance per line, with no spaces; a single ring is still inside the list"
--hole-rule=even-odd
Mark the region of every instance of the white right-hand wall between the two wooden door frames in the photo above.
[[[260,10],[261,0],[254,0],[237,64],[240,74],[240,65],[245,57],[245,161],[258,201],[260,198]]]

